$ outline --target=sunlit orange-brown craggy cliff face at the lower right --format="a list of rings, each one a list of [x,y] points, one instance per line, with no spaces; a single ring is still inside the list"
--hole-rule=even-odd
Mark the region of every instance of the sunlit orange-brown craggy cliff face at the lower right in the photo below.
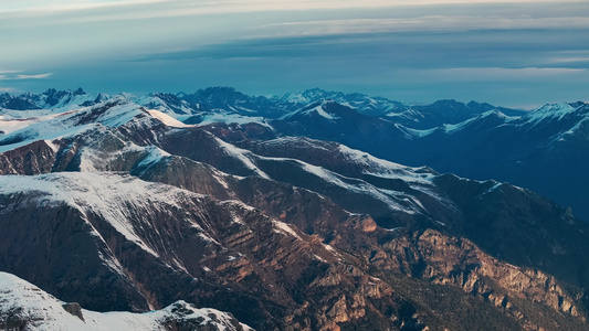
[[[526,330],[558,330],[562,328],[558,322],[562,316],[585,322],[585,313],[579,312],[582,309],[579,289],[541,271],[502,263],[467,239],[428,229],[383,247],[374,253],[372,264],[432,284],[457,287],[518,320]],[[555,322],[538,323],[538,311],[543,309],[532,308],[535,305],[551,308]]]

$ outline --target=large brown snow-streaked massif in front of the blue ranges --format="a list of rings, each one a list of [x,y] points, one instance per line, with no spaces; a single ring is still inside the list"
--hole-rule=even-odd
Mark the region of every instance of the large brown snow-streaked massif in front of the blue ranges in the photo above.
[[[1,270],[84,308],[185,300],[260,330],[587,328],[587,225],[520,188],[122,100],[0,143],[21,174],[0,177]]]

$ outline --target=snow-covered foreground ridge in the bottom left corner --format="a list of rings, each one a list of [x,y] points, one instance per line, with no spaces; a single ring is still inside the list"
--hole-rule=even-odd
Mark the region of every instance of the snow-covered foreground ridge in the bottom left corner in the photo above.
[[[245,324],[235,327],[235,319],[215,309],[197,309],[185,301],[178,301],[165,309],[146,313],[95,312],[81,310],[81,317],[67,312],[62,302],[36,286],[14,275],[0,273],[0,329],[8,317],[24,324],[24,330],[60,331],[135,331],[168,330],[169,321],[200,321],[211,330],[253,330]]]

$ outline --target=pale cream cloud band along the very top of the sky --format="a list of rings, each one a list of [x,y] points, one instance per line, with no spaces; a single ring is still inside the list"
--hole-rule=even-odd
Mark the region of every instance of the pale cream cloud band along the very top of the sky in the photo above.
[[[555,0],[518,0],[519,4],[562,4]],[[565,3],[586,3],[586,0],[567,0]],[[139,19],[175,18],[190,15],[252,13],[272,11],[312,11],[312,10],[346,10],[346,9],[393,9],[393,8],[439,8],[441,6],[506,6],[514,4],[512,0],[50,0],[50,1],[8,1],[0,0],[0,15],[17,13],[19,17],[28,14],[34,17],[60,15],[71,11],[83,14],[69,17],[44,23],[64,22],[97,22],[126,21]],[[120,7],[127,7],[122,11]],[[36,22],[39,23],[39,22]]]

